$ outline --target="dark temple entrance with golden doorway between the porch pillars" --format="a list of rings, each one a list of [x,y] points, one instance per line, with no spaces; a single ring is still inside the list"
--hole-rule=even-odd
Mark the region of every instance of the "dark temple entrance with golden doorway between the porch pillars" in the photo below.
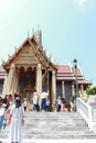
[[[25,70],[24,67],[21,67],[18,86],[21,92],[22,101],[26,99],[28,110],[30,108],[32,109],[32,98],[35,87],[35,68],[33,69],[32,67],[28,67],[28,69]]]

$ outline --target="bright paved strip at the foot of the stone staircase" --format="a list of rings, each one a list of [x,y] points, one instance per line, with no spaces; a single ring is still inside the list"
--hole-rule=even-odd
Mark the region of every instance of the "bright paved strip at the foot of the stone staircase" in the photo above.
[[[2,142],[0,143],[9,143],[7,142],[7,139],[6,140],[0,140]],[[93,139],[93,140],[86,140],[86,139],[82,139],[82,140],[67,140],[67,139],[64,139],[64,140],[34,140],[34,139],[31,139],[31,140],[24,140],[23,143],[95,143],[96,142],[96,139]]]

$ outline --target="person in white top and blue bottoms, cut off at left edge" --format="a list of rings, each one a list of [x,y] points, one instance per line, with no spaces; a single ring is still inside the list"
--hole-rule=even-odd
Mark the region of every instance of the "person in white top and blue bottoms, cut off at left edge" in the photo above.
[[[3,117],[4,117],[4,106],[3,106],[3,99],[0,97],[0,131],[2,129],[3,125]]]

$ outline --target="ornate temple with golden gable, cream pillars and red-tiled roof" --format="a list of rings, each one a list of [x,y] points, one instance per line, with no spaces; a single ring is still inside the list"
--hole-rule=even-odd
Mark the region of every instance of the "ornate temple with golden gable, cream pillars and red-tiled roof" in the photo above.
[[[90,85],[77,67],[77,84],[81,92]],[[0,94],[4,97],[9,92],[20,92],[21,98],[26,97],[31,102],[34,88],[41,101],[42,91],[49,91],[51,105],[57,96],[67,100],[75,94],[76,78],[74,67],[71,65],[56,65],[42,46],[41,30],[36,30],[32,37],[26,37],[13,55],[3,62],[0,68]]]

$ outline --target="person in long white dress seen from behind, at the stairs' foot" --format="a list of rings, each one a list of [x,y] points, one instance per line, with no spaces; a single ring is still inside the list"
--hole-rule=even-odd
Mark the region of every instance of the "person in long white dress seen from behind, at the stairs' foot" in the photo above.
[[[23,122],[23,108],[19,97],[15,98],[15,103],[10,108],[11,122],[9,131],[9,142],[22,142],[22,122]]]

